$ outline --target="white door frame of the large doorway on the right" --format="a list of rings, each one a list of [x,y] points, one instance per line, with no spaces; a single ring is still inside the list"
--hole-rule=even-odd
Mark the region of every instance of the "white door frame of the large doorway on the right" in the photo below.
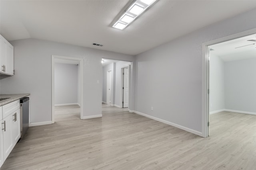
[[[232,39],[244,37],[247,35],[255,34],[256,33],[256,28],[250,29],[247,31],[243,31],[240,33],[236,33],[233,35],[229,35],[226,37],[222,37],[219,39],[215,39],[212,41],[208,41],[206,43],[203,43],[203,56],[202,56],[202,136],[203,137],[208,137],[209,135],[209,127],[208,127],[208,121],[209,121],[209,61],[210,61],[210,45],[214,45],[217,43],[222,43],[224,41],[229,41]]]

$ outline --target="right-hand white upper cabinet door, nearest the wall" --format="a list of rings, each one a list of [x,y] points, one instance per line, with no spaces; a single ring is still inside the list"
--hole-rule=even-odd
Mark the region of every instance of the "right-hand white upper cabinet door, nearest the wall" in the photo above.
[[[14,55],[13,55],[13,46],[10,43],[6,45],[6,68],[5,73],[13,75],[13,64],[14,64]]]

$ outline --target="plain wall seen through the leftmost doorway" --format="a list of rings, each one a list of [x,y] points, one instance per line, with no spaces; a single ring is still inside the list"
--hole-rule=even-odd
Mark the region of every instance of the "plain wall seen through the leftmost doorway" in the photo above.
[[[78,103],[78,65],[54,64],[54,104]]]

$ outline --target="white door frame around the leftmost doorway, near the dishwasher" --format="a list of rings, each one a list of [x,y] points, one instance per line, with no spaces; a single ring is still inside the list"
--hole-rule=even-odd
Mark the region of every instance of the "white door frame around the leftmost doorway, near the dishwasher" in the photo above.
[[[64,57],[64,56],[59,56],[59,55],[52,55],[52,123],[54,123],[54,100],[55,100],[55,97],[54,97],[54,94],[55,94],[55,90],[54,90],[54,60],[55,59],[61,59],[61,60],[65,60],[65,61],[78,61],[79,62],[79,65],[80,65],[80,69],[79,69],[79,72],[80,72],[80,77],[78,77],[78,79],[80,78],[80,119],[83,119],[83,111],[84,111],[84,102],[83,102],[83,99],[84,99],[84,90],[83,90],[83,85],[84,85],[84,80],[83,80],[83,77],[84,77],[84,72],[83,72],[83,59],[82,58],[76,58],[76,57]],[[79,81],[78,81],[79,82]]]

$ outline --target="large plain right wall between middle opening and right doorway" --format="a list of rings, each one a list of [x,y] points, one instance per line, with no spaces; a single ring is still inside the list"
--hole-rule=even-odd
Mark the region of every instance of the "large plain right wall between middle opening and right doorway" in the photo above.
[[[254,29],[255,15],[240,14],[137,55],[135,111],[202,135],[202,43]]]

